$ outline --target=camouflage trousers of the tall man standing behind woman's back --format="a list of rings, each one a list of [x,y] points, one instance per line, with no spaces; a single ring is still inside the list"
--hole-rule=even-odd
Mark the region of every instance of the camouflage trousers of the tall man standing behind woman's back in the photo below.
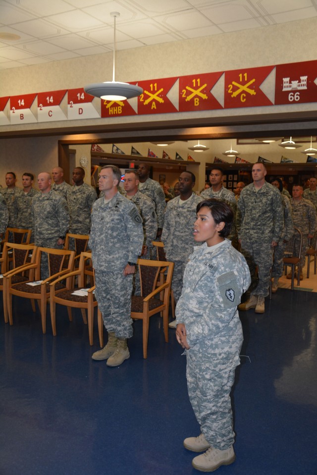
[[[266,297],[270,282],[270,268],[273,265],[271,242],[241,241],[241,254],[244,255],[251,274],[251,295]],[[258,274],[257,274],[258,269]],[[257,281],[258,275],[258,281]]]

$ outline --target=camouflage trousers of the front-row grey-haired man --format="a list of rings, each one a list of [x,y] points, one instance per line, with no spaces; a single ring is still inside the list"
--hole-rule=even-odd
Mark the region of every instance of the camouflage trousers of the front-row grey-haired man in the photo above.
[[[120,339],[133,336],[131,319],[132,274],[123,270],[95,269],[96,299],[107,331],[114,331]]]

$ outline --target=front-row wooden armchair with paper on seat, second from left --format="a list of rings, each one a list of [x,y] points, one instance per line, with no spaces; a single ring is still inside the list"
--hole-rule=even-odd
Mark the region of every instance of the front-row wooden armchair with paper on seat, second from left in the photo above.
[[[41,257],[42,254],[48,255],[49,260],[49,277],[45,280],[41,279]],[[75,251],[67,251],[64,249],[51,249],[51,248],[37,248],[35,262],[26,264],[15,270],[11,270],[5,274],[6,281],[6,299],[7,308],[9,314],[10,325],[13,324],[12,319],[12,295],[30,299],[32,303],[32,310],[35,312],[35,300],[38,301],[39,308],[42,317],[42,329],[43,333],[46,332],[46,307],[47,299],[50,297],[50,282],[55,280],[61,275],[69,273],[73,269]],[[67,261],[67,268],[63,268],[64,262]],[[28,280],[22,283],[14,283],[13,277],[23,274],[23,272],[29,271]],[[36,282],[38,282],[36,284]],[[67,285],[67,281],[66,281]],[[56,286],[56,292],[61,291],[66,286],[64,283],[59,282],[58,288]]]

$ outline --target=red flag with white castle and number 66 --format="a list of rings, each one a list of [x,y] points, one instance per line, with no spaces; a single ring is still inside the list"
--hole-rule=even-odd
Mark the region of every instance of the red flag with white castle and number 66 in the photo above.
[[[316,101],[317,60],[276,66],[274,101],[276,105]]]

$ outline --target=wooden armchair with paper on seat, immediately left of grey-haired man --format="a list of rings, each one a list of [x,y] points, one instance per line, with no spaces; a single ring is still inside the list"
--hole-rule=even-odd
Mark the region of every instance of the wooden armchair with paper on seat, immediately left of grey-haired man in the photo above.
[[[51,305],[51,321],[53,335],[56,336],[56,304],[67,307],[69,321],[72,321],[71,309],[81,309],[84,323],[87,325],[86,310],[88,313],[88,333],[89,342],[93,345],[93,329],[94,329],[94,308],[97,307],[97,301],[94,295],[95,285],[87,289],[87,295],[74,295],[74,292],[85,288],[85,271],[87,263],[91,261],[91,253],[82,252],[79,260],[79,267],[62,277],[54,280],[51,284],[50,305]],[[74,286],[74,277],[78,276],[78,286]],[[58,285],[63,279],[67,279],[66,288],[62,291],[56,291]]]

